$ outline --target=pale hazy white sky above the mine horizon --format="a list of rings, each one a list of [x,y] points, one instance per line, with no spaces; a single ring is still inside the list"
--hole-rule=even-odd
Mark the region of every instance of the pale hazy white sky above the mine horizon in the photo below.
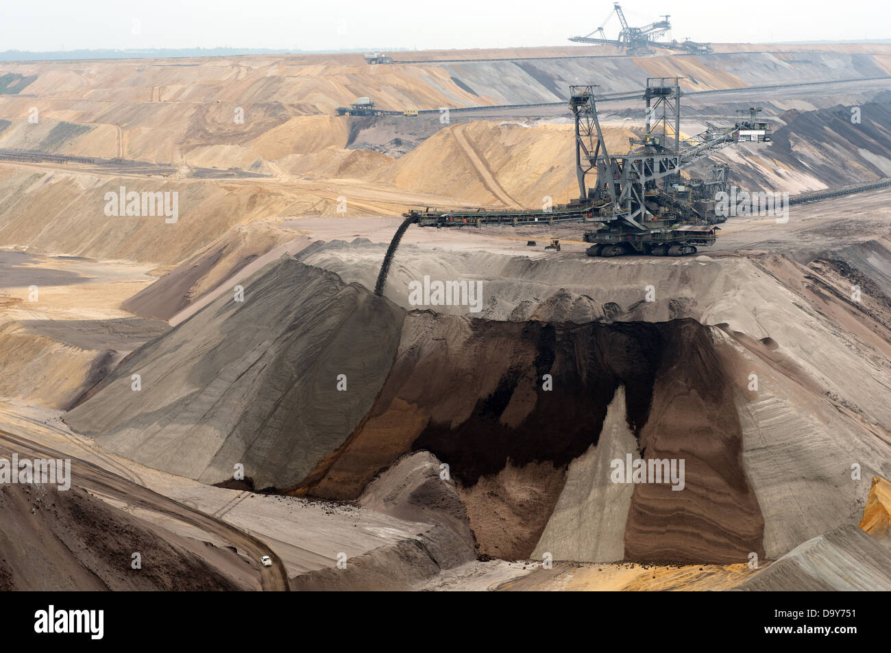
[[[880,0],[628,0],[632,26],[671,14],[671,37],[764,42],[891,38]],[[568,45],[611,0],[40,0],[5,2],[0,51],[78,48],[470,48]],[[606,26],[617,35],[618,20]]]

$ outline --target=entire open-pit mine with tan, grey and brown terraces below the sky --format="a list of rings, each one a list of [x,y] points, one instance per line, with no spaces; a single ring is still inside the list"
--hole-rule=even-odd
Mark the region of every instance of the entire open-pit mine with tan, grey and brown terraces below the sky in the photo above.
[[[0,589],[891,590],[891,45],[622,20],[0,62]]]

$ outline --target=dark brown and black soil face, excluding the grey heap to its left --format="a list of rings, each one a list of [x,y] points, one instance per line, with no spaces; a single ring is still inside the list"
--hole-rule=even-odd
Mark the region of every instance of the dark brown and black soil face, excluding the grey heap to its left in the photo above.
[[[763,556],[764,520],[742,466],[733,391],[710,330],[692,320],[576,325],[409,313],[371,412],[295,491],[357,499],[401,455],[427,450],[449,465],[479,552],[526,559],[570,462],[598,445],[620,388],[637,440],[627,453],[685,460],[683,491],[634,486],[623,557]]]

